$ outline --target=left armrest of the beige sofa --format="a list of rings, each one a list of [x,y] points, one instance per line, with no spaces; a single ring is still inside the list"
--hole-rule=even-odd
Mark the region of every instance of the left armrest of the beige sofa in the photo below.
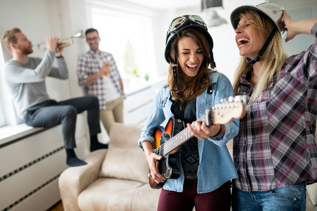
[[[89,184],[98,179],[107,151],[106,149],[93,151],[83,159],[87,165],[68,167],[61,173],[58,186],[65,211],[80,210],[77,198]]]

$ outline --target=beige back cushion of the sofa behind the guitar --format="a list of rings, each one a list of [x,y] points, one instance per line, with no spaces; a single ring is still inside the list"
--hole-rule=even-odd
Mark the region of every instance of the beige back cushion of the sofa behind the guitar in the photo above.
[[[149,165],[144,152],[137,146],[141,128],[141,125],[113,124],[100,177],[149,182]]]

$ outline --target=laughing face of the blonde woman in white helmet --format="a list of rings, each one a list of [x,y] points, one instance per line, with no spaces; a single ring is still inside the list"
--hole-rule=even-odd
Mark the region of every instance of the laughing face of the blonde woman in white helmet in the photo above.
[[[259,30],[254,26],[254,18],[251,13],[242,16],[235,34],[240,56],[254,58],[264,44],[264,39],[261,38]]]

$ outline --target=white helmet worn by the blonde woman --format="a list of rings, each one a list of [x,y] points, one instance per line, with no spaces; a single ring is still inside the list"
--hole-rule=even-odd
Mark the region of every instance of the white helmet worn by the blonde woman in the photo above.
[[[245,11],[256,11],[259,12],[259,15],[263,14],[270,18],[273,23],[278,27],[280,34],[284,34],[286,31],[285,23],[283,20],[283,10],[282,6],[278,6],[277,4],[273,3],[263,3],[256,6],[246,5],[240,6],[235,8],[230,15],[230,20],[232,27],[236,30],[237,25],[240,22],[240,14],[244,13]]]

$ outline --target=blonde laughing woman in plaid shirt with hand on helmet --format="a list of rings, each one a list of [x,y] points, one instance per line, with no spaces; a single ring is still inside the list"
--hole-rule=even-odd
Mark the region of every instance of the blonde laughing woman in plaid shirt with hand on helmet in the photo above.
[[[281,33],[316,38],[316,22],[270,3],[231,13],[241,56],[233,87],[250,96],[233,143],[232,210],[306,210],[306,183],[317,179],[317,42],[289,57]]]

